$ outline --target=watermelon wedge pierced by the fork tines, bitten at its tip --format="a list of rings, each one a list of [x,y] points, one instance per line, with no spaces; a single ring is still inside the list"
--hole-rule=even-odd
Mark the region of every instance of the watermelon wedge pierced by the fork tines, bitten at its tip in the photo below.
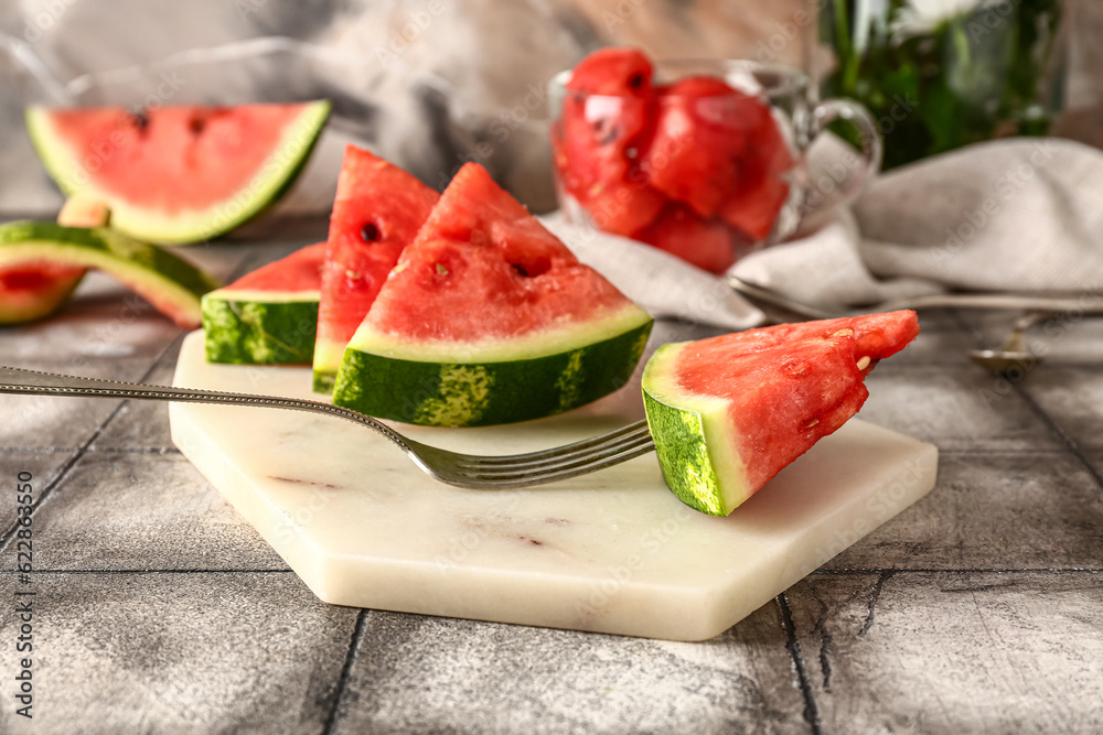
[[[726,516],[858,412],[877,360],[919,334],[911,311],[782,324],[660,347],[643,372],[663,476]]]

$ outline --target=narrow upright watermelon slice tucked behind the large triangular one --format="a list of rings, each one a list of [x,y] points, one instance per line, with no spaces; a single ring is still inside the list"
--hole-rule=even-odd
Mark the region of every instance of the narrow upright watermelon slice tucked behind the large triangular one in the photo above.
[[[322,271],[315,391],[333,390],[345,346],[438,198],[398,166],[355,145],[345,149]]]

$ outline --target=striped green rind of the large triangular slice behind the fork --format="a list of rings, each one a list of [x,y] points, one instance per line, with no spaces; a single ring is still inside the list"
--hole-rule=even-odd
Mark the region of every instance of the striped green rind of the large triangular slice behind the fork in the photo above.
[[[582,329],[585,338],[550,354],[521,348],[503,358],[510,352],[507,343],[490,349],[483,345],[481,349],[495,359],[478,358],[476,350],[454,344],[452,354],[460,358],[453,360],[407,359],[350,345],[338,371],[333,403],[429,426],[486,426],[555,415],[628,382],[651,334],[653,322],[644,317],[627,328],[617,324],[610,329],[607,324],[604,332],[588,324],[599,328]]]

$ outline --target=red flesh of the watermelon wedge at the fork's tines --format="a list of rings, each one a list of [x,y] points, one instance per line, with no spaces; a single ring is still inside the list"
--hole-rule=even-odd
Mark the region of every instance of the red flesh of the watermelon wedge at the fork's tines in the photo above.
[[[690,343],[681,389],[729,401],[753,493],[861,408],[863,380],[919,334],[911,311],[782,324]]]

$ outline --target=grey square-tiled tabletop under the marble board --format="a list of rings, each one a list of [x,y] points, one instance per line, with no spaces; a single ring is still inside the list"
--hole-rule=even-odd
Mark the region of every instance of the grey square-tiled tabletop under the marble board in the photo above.
[[[229,278],[306,241],[190,255]],[[0,396],[0,732],[1101,732],[1103,321],[1054,317],[1046,363],[996,379],[964,353],[1013,318],[922,315],[861,415],[940,447],[934,490],[702,644],[326,605],[164,404]],[[0,364],[164,382],[181,337],[93,278]]]

